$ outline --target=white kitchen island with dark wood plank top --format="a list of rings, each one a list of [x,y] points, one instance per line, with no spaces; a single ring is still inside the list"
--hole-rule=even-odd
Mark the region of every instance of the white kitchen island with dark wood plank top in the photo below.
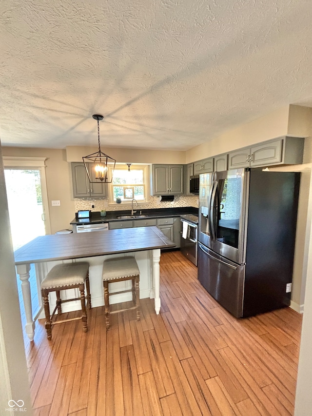
[[[15,264],[21,280],[22,296],[25,307],[25,331],[30,340],[34,339],[35,322],[32,314],[31,291],[29,284],[30,264],[36,265],[37,286],[53,266],[60,262],[76,261],[84,258],[90,264],[90,291],[92,306],[104,305],[102,289],[102,264],[104,258],[118,257],[131,253],[137,260],[140,270],[140,298],[155,299],[155,311],[159,314],[159,259],[160,249],[175,247],[157,227],[140,227],[117,230],[98,231],[96,233],[60,234],[37,237],[15,251]],[[104,257],[105,256],[105,257]],[[116,289],[112,293],[123,290],[122,284],[112,283]],[[70,289],[75,291],[77,289]],[[111,291],[110,291],[111,292]],[[71,294],[64,298],[72,297]],[[116,295],[111,303],[130,300],[131,294]],[[39,299],[41,295],[39,292]],[[54,307],[55,299],[51,299]],[[67,302],[68,309],[77,310],[78,301]]]

